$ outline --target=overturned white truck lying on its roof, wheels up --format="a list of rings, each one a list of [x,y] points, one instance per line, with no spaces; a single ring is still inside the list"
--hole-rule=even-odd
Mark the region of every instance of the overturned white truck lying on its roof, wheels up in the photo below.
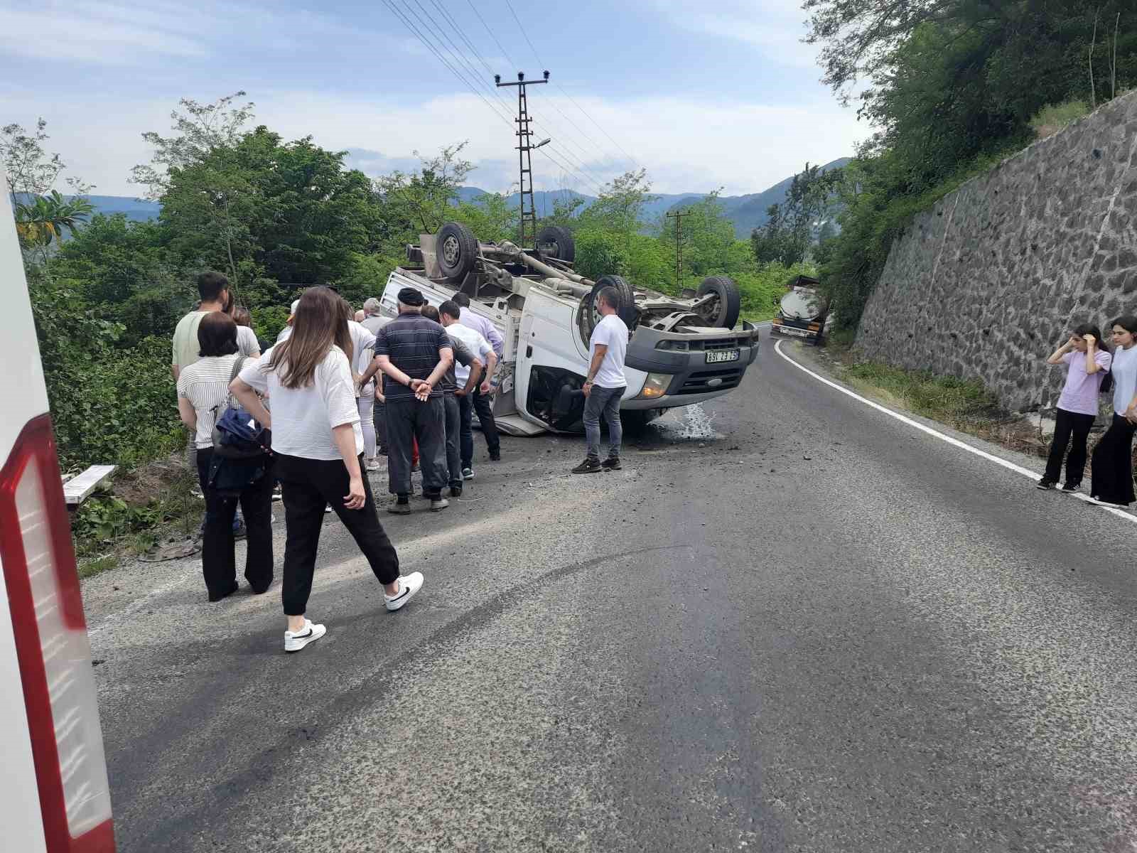
[[[391,273],[381,299],[393,316],[400,288],[414,287],[439,305],[466,293],[463,310],[492,322],[505,341],[495,376],[493,414],[512,434],[582,432],[589,339],[600,320],[596,295],[613,287],[617,314],[628,325],[621,415],[640,423],[667,408],[728,394],[758,351],[758,332],[740,329],[739,293],[714,276],[689,297],[632,288],[617,275],[591,281],[572,268],[574,247],[565,229],[546,227],[537,249],[479,243],[460,223],[407,247],[410,263]]]

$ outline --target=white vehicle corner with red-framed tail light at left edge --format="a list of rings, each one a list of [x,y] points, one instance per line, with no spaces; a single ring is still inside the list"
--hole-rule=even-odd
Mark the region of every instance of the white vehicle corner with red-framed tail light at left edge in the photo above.
[[[113,853],[91,644],[7,191],[0,281],[0,833],[13,853]]]

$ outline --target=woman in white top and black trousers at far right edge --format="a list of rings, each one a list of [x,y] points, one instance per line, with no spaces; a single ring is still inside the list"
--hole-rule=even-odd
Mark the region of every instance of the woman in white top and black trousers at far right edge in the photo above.
[[[1089,494],[1099,504],[1134,502],[1134,431],[1137,430],[1137,317],[1118,317],[1113,326],[1113,422],[1094,448]]]

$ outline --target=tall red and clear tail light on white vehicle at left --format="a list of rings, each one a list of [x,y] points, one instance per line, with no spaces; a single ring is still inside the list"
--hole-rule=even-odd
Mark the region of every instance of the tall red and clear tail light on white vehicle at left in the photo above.
[[[0,469],[0,561],[48,853],[114,853],[91,643],[48,415],[27,423]]]

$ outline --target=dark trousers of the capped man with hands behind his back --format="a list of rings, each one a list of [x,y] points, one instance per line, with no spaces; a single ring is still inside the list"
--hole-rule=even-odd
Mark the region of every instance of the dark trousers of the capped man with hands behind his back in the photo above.
[[[410,454],[418,441],[418,466],[423,494],[439,495],[446,488],[446,403],[431,397],[387,400],[387,473],[393,495],[410,494]]]

